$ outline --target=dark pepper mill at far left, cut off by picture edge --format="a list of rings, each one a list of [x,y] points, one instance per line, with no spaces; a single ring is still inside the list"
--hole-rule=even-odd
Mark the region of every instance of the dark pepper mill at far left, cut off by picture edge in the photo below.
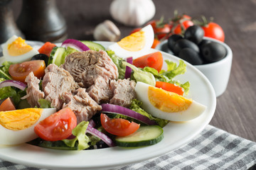
[[[11,0],[0,1],[0,44],[6,42],[12,35],[24,38],[14,21],[14,14],[9,6],[10,2]]]

